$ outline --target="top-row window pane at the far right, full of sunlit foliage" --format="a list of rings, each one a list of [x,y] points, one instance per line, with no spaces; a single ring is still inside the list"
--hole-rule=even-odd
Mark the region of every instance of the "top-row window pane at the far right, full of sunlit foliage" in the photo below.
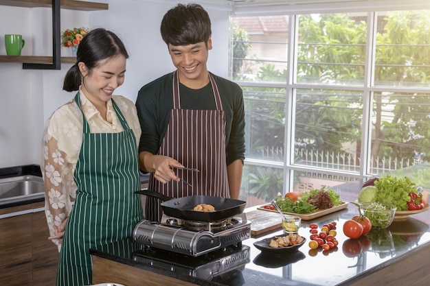
[[[375,86],[430,83],[430,10],[378,12]]]

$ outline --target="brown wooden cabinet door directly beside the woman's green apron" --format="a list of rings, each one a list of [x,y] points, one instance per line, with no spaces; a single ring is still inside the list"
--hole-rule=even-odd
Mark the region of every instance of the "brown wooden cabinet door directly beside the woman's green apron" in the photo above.
[[[33,286],[55,285],[58,248],[48,239],[45,212],[32,213]]]

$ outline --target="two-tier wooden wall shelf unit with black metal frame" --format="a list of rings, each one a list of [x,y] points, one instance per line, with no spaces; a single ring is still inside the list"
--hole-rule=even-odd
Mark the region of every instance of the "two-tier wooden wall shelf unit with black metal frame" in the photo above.
[[[60,5],[58,5],[60,3]],[[60,58],[60,9],[95,11],[108,10],[109,4],[76,0],[0,0],[0,5],[52,8],[54,56],[0,56],[0,62],[22,62],[23,69],[61,69],[61,62],[75,63],[76,58]]]

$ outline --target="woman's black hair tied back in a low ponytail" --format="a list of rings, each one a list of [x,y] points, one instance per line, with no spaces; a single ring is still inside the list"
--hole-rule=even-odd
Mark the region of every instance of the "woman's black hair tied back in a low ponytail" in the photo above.
[[[73,67],[67,71],[63,82],[63,90],[78,91],[80,84],[82,84],[82,74],[79,71],[78,62],[83,62],[89,73],[91,73],[91,70],[97,67],[100,60],[119,54],[128,58],[124,43],[115,33],[103,28],[91,30],[80,41],[76,64],[73,64]]]

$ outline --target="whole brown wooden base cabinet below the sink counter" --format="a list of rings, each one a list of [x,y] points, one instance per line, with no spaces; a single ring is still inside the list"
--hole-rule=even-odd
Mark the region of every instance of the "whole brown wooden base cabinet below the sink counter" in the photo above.
[[[0,285],[55,285],[58,248],[49,241],[44,202],[0,209]]]

